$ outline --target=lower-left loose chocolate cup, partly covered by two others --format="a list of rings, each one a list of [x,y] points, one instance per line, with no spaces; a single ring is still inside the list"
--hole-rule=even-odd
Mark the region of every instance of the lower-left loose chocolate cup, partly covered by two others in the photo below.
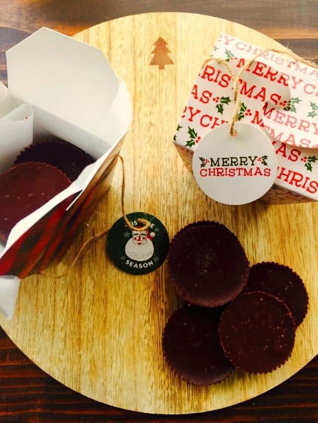
[[[163,331],[164,357],[174,375],[194,385],[224,380],[234,369],[219,340],[222,310],[186,305],[176,310]]]

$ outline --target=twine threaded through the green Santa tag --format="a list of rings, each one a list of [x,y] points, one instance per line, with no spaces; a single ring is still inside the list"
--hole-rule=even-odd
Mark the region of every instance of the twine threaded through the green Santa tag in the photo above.
[[[125,207],[124,207],[124,197],[125,197],[125,166],[124,166],[124,159],[121,155],[118,156],[120,158],[121,164],[122,164],[122,185],[121,185],[121,210],[122,210],[122,214],[123,214],[123,218],[125,220],[126,225],[131,229],[131,230],[137,230],[137,231],[142,231],[142,230],[146,230],[149,228],[150,226],[150,222],[146,219],[142,219],[142,218],[138,218],[137,221],[142,223],[144,226],[142,227],[136,227],[133,226],[130,221],[128,220],[128,217],[126,215],[125,212]],[[90,238],[86,239],[86,241],[83,243],[83,245],[80,247],[77,255],[75,256],[75,258],[73,259],[72,263],[70,264],[70,266],[66,269],[65,272],[61,273],[60,275],[50,275],[47,274],[45,272],[39,272],[38,275],[41,276],[45,276],[48,278],[54,278],[54,279],[61,279],[64,278],[66,275],[68,275],[70,273],[70,271],[73,269],[73,267],[76,265],[76,263],[79,260],[80,255],[82,254],[82,252],[85,250],[85,248],[87,247],[88,244],[90,244],[92,241],[102,237],[103,235],[106,235],[110,230],[110,227],[108,227],[107,229],[103,229],[102,231],[98,232],[96,235],[92,235]]]

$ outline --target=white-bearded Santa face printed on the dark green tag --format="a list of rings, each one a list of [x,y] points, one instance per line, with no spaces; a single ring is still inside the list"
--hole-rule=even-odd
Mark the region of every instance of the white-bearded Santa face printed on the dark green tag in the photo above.
[[[154,244],[152,238],[155,233],[149,233],[147,230],[133,230],[132,238],[127,241],[125,246],[126,255],[138,262],[148,260],[154,254]]]

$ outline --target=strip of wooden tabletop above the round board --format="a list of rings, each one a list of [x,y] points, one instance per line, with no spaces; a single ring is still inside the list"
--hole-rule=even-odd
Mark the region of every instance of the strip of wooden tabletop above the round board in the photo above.
[[[317,7],[318,0],[245,0],[239,5],[232,0],[1,0],[0,80],[7,83],[5,50],[42,26],[74,35],[104,21],[158,11],[201,13],[237,22],[280,39],[299,56],[311,59],[317,55]]]

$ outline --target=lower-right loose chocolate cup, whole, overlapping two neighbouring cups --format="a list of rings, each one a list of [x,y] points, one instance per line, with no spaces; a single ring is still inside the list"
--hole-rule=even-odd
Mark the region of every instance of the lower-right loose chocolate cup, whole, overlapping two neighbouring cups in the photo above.
[[[291,356],[296,326],[283,301],[264,292],[240,294],[228,304],[219,325],[220,342],[233,365],[268,373]]]

